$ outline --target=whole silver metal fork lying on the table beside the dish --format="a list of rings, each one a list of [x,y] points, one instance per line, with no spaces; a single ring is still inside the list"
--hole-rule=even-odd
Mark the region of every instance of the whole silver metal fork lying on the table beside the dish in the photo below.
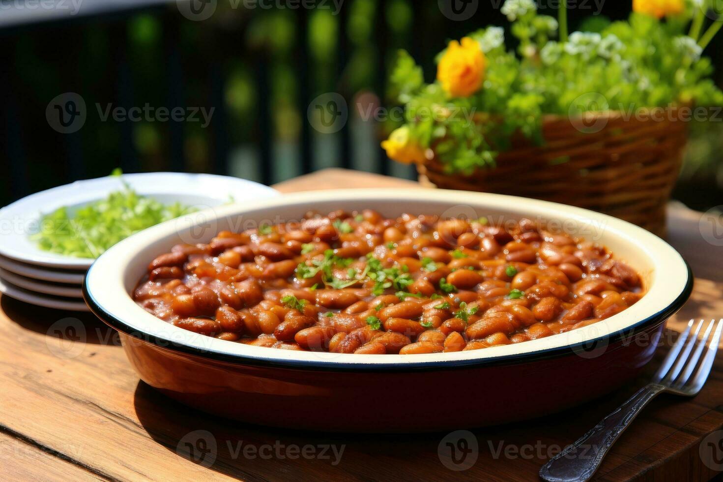
[[[603,418],[578,441],[552,457],[540,469],[540,477],[549,482],[588,481],[599,468],[600,462],[612,444],[656,395],[663,392],[686,397],[697,395],[711,373],[721,338],[723,319],[718,321],[713,332],[714,325],[716,325],[715,320],[711,320],[703,338],[698,339],[703,320],[696,325],[693,336],[690,336],[693,328],[693,320],[690,320],[688,328],[680,334],[651,382],[638,390],[615,412]],[[711,332],[713,332],[712,337]],[[698,370],[693,375],[696,366]]]

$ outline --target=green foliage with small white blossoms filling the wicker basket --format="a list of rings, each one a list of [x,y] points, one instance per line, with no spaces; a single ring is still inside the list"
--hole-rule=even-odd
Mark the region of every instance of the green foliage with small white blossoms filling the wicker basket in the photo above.
[[[440,83],[424,83],[405,51],[392,71],[411,138],[432,148],[450,173],[494,167],[514,134],[543,143],[544,114],[723,105],[711,62],[701,57],[705,35],[701,41],[686,35],[694,12],[667,20],[636,13],[612,23],[591,18],[583,22],[587,31],[567,41],[557,40],[557,20],[537,14],[532,0],[507,0],[502,13],[518,49],[505,48],[499,27],[468,35],[487,59],[482,88],[472,96],[452,98]]]

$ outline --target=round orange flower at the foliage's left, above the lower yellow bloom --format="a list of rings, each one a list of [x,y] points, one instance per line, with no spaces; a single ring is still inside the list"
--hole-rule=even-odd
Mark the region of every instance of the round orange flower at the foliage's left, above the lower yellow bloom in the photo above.
[[[482,86],[487,59],[479,43],[469,37],[451,41],[437,65],[437,80],[453,97],[469,97]]]

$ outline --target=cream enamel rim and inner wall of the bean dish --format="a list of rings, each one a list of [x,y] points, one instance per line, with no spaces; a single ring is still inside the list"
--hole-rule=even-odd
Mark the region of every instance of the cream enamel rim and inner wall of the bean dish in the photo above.
[[[615,316],[580,329],[520,344],[487,350],[429,355],[346,355],[298,352],[254,347],[194,334],[155,318],[136,305],[132,293],[155,256],[179,242],[208,242],[222,229],[240,230],[260,223],[298,220],[313,209],[321,213],[372,208],[385,216],[401,213],[435,213],[442,217],[476,219],[528,217],[547,221],[568,234],[599,242],[641,274],[643,298]],[[569,349],[591,340],[613,339],[626,331],[662,323],[690,295],[692,276],[683,258],[666,242],[628,222],[581,208],[486,193],[450,190],[333,190],[284,195],[257,200],[244,206],[218,206],[152,227],[101,255],[87,273],[84,294],[93,311],[124,333],[171,346],[176,350],[216,360],[239,363],[272,363],[283,366],[324,368],[419,368],[455,366],[516,359]]]

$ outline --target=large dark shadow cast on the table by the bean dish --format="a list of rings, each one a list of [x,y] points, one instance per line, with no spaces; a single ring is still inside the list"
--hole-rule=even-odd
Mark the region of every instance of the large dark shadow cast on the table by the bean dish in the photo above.
[[[675,335],[665,338],[675,339]],[[143,428],[163,447],[209,470],[247,481],[536,480],[537,471],[549,457],[646,383],[664,351],[659,350],[656,360],[634,384],[607,397],[567,410],[564,415],[474,428],[471,433],[338,434],[254,426],[186,407],[143,382],[136,388],[134,405]],[[490,396],[495,396],[493,391]],[[680,402],[683,400],[659,397],[651,402],[649,410],[675,410]],[[434,400],[419,403],[429,405],[429,417],[444,417],[447,410],[484,410],[476,401],[465,399],[463,387],[458,406],[436,407]],[[289,405],[288,410],[294,410],[294,405]],[[400,416],[404,413],[404,408],[396,407],[392,399],[368,410],[395,410]],[[299,418],[304,416],[299,413]],[[354,417],[354,413],[348,416]],[[644,413],[636,423],[641,429],[621,437],[614,449],[617,456],[606,460],[602,472],[640,455],[645,444],[651,442],[646,430],[653,431],[655,437],[660,435],[657,420],[646,420]],[[455,464],[448,457],[440,457],[448,443],[462,462]],[[469,468],[459,470],[464,465]]]

